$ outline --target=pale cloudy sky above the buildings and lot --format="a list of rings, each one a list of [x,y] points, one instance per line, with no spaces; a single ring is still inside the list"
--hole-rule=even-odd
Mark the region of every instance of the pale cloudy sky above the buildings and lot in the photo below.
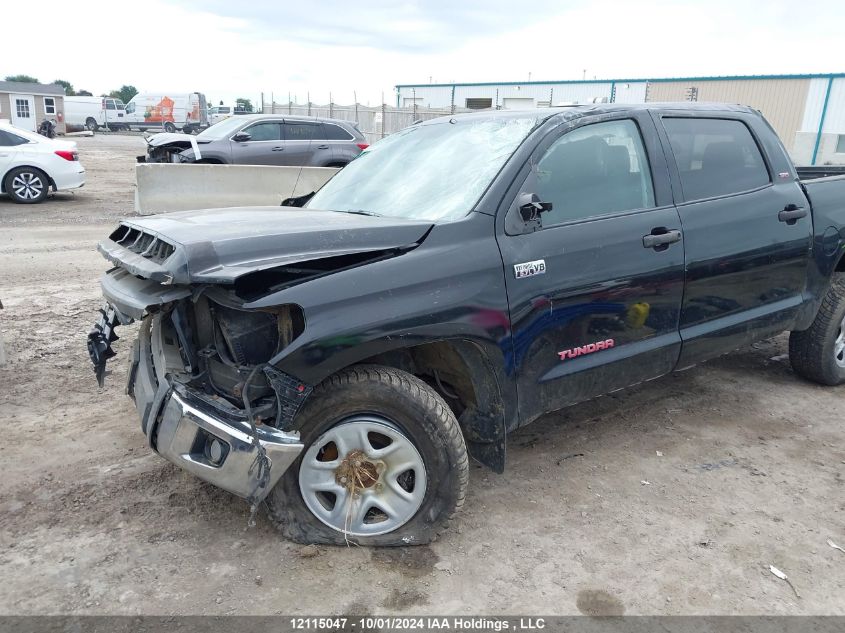
[[[0,78],[395,103],[410,83],[845,72],[828,0],[3,3]],[[46,17],[45,17],[46,16]],[[19,27],[9,28],[12,25]]]

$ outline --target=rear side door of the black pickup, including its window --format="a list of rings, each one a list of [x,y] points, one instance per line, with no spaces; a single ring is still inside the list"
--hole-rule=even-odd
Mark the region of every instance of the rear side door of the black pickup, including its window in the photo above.
[[[686,244],[680,366],[789,329],[810,258],[809,203],[775,171],[760,139],[772,132],[742,112],[655,115],[674,157]]]

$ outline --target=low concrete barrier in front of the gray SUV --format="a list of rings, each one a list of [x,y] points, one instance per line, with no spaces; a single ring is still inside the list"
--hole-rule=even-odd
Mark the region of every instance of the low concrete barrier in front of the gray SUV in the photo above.
[[[334,167],[171,165],[135,167],[135,211],[141,215],[220,207],[277,206],[316,191]]]

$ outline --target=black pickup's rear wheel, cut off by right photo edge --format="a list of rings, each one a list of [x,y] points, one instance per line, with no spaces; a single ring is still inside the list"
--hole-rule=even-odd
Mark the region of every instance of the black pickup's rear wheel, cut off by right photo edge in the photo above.
[[[790,334],[789,360],[808,380],[845,384],[845,275],[834,276],[809,329]]]

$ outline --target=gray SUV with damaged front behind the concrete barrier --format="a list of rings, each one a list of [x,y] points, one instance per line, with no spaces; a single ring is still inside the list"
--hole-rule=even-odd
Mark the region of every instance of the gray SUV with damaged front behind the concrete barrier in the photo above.
[[[138,160],[343,167],[366,147],[366,138],[349,121],[251,114],[224,119],[197,136],[154,134],[147,138],[147,156]]]

